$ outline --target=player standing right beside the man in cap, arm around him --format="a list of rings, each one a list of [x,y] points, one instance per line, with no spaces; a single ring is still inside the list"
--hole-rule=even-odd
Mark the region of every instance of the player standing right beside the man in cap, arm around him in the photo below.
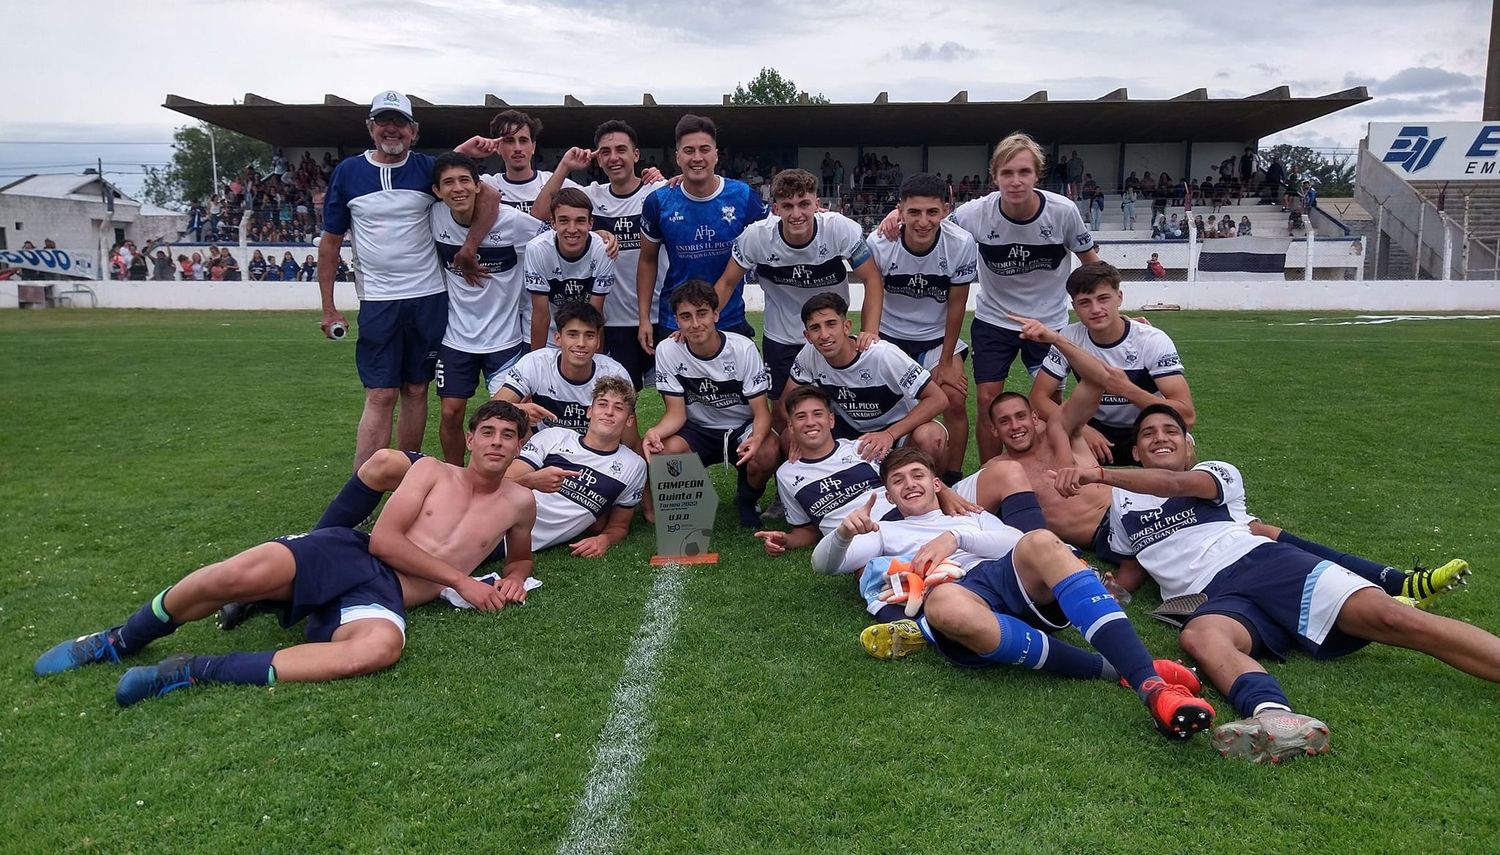
[[[458,270],[454,256],[470,236],[478,200],[478,164],[456,152],[440,154],[432,166],[432,237],[442,261],[448,288],[448,327],[438,346],[438,400],[442,417],[438,440],[442,459],[464,465],[464,412],[478,386],[480,372],[498,381],[512,363],[526,352],[520,330],[522,268],[518,248],[525,246],[546,225],[501,207],[495,225],[478,246],[484,278],[470,285]]]

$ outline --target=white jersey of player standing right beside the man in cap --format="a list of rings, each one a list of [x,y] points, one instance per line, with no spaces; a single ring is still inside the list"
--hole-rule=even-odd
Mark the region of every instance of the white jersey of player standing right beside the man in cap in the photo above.
[[[520,328],[522,286],[520,248],[546,224],[520,212],[501,207],[500,219],[478,244],[478,267],[484,284],[470,285],[454,256],[468,240],[468,226],[453,219],[442,202],[430,212],[432,240],[442,261],[442,280],[448,288],[448,328],[442,344],[470,354],[492,354],[525,340]]]

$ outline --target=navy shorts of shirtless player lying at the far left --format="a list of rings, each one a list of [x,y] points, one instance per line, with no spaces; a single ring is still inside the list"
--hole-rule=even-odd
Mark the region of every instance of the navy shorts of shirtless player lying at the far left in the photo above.
[[[400,580],[384,561],[370,555],[370,536],[352,528],[320,528],[308,534],[278,537],[297,562],[291,603],[282,610],[282,626],[306,618],[310,642],[326,642],[340,626],[384,618],[406,638],[406,609]]]

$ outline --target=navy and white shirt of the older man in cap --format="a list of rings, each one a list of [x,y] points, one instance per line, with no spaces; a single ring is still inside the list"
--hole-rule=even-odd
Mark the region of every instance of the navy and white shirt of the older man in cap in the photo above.
[[[376,164],[372,152],[345,158],[328,177],[322,228],[350,232],[360,300],[406,300],[446,288],[432,246],[428,212],[432,158],[408,152],[399,164]]]

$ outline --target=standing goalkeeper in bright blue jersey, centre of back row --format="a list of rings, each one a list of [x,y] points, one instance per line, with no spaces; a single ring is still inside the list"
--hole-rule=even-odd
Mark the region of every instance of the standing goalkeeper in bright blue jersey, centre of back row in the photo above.
[[[766,208],[750,184],[714,174],[718,165],[718,128],[706,116],[684,116],[676,123],[676,165],[682,183],[651,194],[640,208],[640,256],[636,262],[636,298],[640,346],[656,345],[676,328],[672,291],[690,279],[717,282],[729,262],[735,238],[747,225],[765,219]],[[652,315],[657,260],[666,249],[666,279],[658,314]],[[718,312],[718,326],[754,339],[746,321],[744,284],[738,284]]]

